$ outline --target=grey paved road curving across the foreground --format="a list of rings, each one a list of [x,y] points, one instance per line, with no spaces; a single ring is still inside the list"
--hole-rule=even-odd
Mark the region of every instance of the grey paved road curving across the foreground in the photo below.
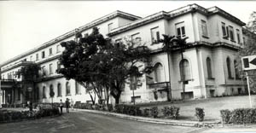
[[[0,124],[0,133],[188,133],[198,128],[148,124],[111,116],[72,112],[61,117]]]

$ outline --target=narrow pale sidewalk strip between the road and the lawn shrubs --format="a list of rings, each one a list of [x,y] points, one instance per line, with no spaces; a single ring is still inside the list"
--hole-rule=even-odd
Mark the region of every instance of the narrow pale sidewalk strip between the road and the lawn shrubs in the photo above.
[[[181,126],[190,126],[190,127],[213,127],[220,124],[220,121],[188,121],[188,120],[174,120],[174,119],[153,119],[153,118],[146,118],[140,116],[131,116],[122,113],[110,113],[110,112],[103,112],[97,110],[88,110],[88,109],[76,109],[78,111],[88,112],[88,113],[99,113],[104,115],[110,115],[121,119],[131,119],[140,122],[152,123],[152,124],[169,124],[169,125],[181,125]]]

